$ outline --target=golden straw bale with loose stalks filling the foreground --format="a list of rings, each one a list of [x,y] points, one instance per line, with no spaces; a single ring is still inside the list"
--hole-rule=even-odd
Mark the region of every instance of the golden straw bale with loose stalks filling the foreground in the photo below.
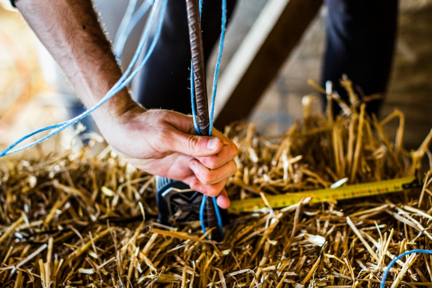
[[[231,199],[413,175],[430,155],[430,137],[416,152],[402,148],[400,112],[378,122],[364,104],[345,104],[350,114],[333,120],[305,103],[302,123],[279,138],[259,137],[253,125],[227,128],[240,149]],[[383,125],[395,117],[402,129],[392,144]],[[432,248],[430,173],[422,191],[231,214],[216,243],[198,223],[158,224],[154,177],[109,149],[3,166],[2,287],[378,287],[395,256]],[[388,283],[432,286],[431,263],[401,259]]]

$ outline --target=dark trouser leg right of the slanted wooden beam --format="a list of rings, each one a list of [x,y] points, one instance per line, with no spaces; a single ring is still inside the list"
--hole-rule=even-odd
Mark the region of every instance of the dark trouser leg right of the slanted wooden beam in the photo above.
[[[329,9],[327,47],[322,84],[330,80],[333,89],[347,99],[339,85],[346,74],[365,95],[384,93],[389,79],[398,0],[325,0]],[[367,105],[377,113],[381,100]],[[334,106],[335,113],[340,111]]]

